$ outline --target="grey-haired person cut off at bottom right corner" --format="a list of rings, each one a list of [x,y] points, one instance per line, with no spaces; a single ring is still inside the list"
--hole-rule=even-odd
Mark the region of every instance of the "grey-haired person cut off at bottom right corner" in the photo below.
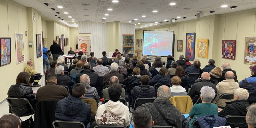
[[[245,121],[248,124],[248,128],[256,128],[256,104],[252,104],[248,107]]]

